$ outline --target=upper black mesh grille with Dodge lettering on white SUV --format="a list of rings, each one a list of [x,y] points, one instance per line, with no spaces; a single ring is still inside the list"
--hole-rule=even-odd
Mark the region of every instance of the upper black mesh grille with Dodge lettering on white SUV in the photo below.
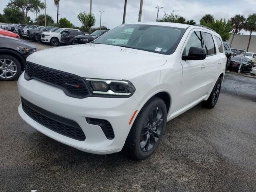
[[[27,62],[25,79],[37,79],[58,86],[67,96],[85,98],[89,92],[85,81],[77,75]]]

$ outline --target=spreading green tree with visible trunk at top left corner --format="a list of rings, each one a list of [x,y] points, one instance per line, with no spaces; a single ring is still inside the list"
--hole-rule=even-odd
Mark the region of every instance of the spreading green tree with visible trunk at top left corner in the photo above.
[[[40,0],[10,0],[8,7],[18,8],[23,13],[25,24],[28,23],[28,12],[40,12],[44,8],[44,3]]]

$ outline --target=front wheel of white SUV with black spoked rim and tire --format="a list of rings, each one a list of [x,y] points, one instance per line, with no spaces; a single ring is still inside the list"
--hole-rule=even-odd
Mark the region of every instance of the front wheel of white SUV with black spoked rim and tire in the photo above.
[[[157,122],[157,126],[149,125],[149,122],[153,125],[149,116],[154,117],[151,119]],[[164,101],[157,97],[151,98],[136,117],[126,138],[124,152],[137,160],[151,156],[161,142],[166,129],[166,119],[167,110]]]

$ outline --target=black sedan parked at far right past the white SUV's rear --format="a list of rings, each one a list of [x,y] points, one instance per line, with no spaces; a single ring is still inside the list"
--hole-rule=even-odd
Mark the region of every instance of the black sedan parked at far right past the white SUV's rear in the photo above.
[[[250,72],[252,68],[252,61],[243,56],[231,57],[230,64],[227,69],[235,72]],[[240,69],[240,71],[239,71]]]

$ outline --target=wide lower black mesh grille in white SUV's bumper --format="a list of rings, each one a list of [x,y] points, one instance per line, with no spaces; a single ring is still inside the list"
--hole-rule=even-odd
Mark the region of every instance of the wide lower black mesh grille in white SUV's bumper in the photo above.
[[[28,102],[24,98],[21,98],[21,101],[24,112],[39,124],[69,138],[80,141],[85,140],[83,130],[75,121],[46,111]]]

